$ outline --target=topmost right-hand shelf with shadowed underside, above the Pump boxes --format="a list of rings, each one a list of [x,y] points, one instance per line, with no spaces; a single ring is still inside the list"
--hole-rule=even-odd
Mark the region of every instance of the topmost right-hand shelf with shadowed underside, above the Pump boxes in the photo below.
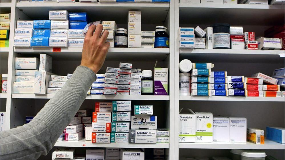
[[[192,22],[195,22],[195,24],[213,24],[224,22],[235,25],[281,25],[284,21],[285,6],[179,3],[179,10],[180,24]],[[189,21],[190,18],[191,22]]]

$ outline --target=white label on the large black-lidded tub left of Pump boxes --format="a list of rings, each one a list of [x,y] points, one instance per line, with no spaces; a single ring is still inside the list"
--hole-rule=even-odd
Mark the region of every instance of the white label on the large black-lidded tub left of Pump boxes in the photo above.
[[[230,48],[230,34],[229,33],[214,33],[213,34],[213,48],[225,47]]]

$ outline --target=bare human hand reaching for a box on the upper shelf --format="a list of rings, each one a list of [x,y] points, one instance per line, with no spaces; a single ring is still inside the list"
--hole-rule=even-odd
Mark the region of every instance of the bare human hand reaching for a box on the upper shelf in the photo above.
[[[88,28],[84,38],[80,65],[90,68],[94,73],[101,69],[110,47],[110,42],[106,42],[109,32],[104,30],[100,37],[102,30],[102,24],[92,25]]]

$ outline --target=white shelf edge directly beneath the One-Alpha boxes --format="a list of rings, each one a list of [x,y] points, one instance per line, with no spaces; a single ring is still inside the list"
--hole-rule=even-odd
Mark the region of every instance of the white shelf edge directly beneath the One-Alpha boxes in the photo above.
[[[179,148],[191,149],[285,149],[285,144],[265,140],[264,144],[252,142],[197,142],[179,143]]]

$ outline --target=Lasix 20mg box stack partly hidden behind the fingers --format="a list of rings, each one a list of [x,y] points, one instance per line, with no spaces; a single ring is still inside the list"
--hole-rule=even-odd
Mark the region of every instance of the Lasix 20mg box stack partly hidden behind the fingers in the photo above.
[[[110,42],[110,47],[114,48],[115,44],[115,30],[117,29],[117,24],[115,21],[103,21],[103,31],[108,30],[109,35],[107,37],[107,41]]]

